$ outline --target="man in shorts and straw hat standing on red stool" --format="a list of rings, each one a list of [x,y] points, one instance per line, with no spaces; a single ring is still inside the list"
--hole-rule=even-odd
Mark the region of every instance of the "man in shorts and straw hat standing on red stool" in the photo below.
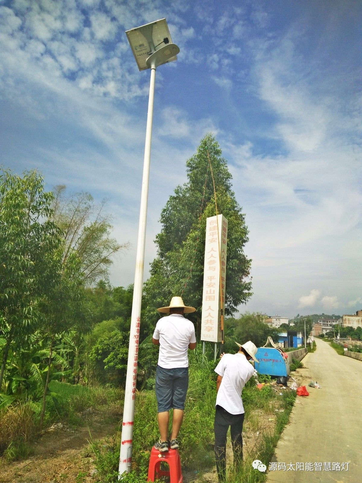
[[[195,312],[194,307],[184,305],[181,297],[172,297],[168,307],[157,309],[169,313],[162,317],[153,332],[152,342],[160,344],[156,369],[156,399],[160,439],[154,445],[161,452],[177,449],[186,393],[189,384],[189,359],[187,350],[196,347],[194,324],[185,319],[184,313]],[[173,408],[172,433],[168,440],[169,410]]]

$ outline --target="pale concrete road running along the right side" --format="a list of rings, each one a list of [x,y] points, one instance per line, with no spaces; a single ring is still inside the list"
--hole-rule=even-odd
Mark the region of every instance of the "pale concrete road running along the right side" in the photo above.
[[[362,361],[338,355],[327,342],[316,343],[317,350],[302,360],[307,369],[299,372],[306,386],[313,380],[321,389],[307,387],[308,397],[297,396],[268,483],[362,482]],[[278,469],[282,463],[286,470]],[[296,470],[296,463],[304,463],[304,470]],[[340,470],[333,469],[338,463]]]

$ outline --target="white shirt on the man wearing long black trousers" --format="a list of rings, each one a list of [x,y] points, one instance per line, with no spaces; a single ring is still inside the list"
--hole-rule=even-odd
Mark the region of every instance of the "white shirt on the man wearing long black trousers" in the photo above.
[[[222,376],[216,405],[221,406],[230,414],[241,414],[244,411],[241,392],[254,373],[254,368],[244,354],[225,354],[215,368]]]

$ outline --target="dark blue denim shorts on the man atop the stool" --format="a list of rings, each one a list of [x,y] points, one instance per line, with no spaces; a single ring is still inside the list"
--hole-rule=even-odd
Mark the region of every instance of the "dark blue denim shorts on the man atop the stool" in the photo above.
[[[165,412],[171,408],[183,410],[188,385],[188,367],[164,369],[157,366],[155,384],[157,411]]]

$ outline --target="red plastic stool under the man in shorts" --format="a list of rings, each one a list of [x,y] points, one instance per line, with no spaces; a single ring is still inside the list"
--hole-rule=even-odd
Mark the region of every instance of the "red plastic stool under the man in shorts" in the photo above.
[[[168,471],[161,470],[161,462],[168,464]],[[150,464],[148,466],[148,482],[154,482],[161,476],[169,476],[170,483],[182,483],[181,461],[179,450],[168,449],[167,452],[161,453],[153,446],[150,455]]]

